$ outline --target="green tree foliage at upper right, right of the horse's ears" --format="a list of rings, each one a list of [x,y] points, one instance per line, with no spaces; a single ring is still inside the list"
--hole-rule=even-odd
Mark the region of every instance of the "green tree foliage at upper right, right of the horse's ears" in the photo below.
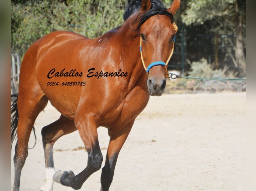
[[[238,3],[238,7],[236,2],[237,0],[188,0],[186,9],[181,14],[182,22],[188,26],[197,26],[210,21],[208,27],[212,32],[232,34],[235,30],[236,9],[239,9],[240,15],[245,16],[245,1]],[[245,25],[243,28],[245,32]]]

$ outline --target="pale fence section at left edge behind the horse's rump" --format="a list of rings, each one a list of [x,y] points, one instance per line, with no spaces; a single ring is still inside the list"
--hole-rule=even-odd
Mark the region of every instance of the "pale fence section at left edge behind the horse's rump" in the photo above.
[[[20,74],[20,59],[17,54],[11,54],[11,94],[18,93]]]

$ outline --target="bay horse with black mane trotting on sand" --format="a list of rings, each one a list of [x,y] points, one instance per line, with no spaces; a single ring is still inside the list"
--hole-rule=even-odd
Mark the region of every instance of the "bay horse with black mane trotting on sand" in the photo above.
[[[61,115],[41,130],[46,168],[41,190],[51,191],[54,181],[80,189],[92,173],[101,169],[99,126],[106,127],[110,136],[101,174],[101,190],[109,190],[118,154],[135,118],[150,95],[160,96],[164,91],[166,65],[177,32],[173,15],[180,0],[174,0],[167,9],[151,6],[150,0],[140,4],[122,26],[101,37],[88,39],[73,32],[55,31],[27,50],[20,69],[19,95],[11,108],[11,144],[17,135],[14,191],[20,187],[35,119],[48,100]],[[76,130],[88,153],[87,166],[77,175],[72,171],[55,172],[53,144]]]

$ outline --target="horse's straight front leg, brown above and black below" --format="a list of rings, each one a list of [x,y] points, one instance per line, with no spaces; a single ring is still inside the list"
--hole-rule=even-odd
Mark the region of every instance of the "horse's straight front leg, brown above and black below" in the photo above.
[[[109,190],[113,180],[118,154],[131,131],[133,123],[134,120],[120,129],[120,131],[111,132],[111,130],[109,130],[110,141],[105,166],[102,168],[101,173],[101,191]]]

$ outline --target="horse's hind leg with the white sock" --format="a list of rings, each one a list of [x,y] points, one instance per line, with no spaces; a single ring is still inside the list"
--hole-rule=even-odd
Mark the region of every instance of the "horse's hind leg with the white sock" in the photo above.
[[[55,173],[52,147],[58,138],[77,130],[74,121],[60,116],[55,122],[42,128],[42,141],[45,157],[45,184],[41,186],[41,191],[52,191],[53,175]]]

